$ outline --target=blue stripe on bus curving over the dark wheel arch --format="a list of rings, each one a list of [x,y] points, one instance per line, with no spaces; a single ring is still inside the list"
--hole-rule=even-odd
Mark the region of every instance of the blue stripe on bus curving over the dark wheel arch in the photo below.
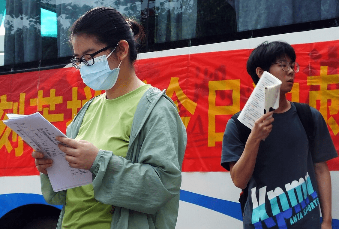
[[[29,204],[47,204],[42,195],[32,194],[32,193],[11,193],[11,194],[2,194],[0,195],[0,217],[2,217],[7,212]],[[61,209],[62,206],[51,205],[56,208]]]

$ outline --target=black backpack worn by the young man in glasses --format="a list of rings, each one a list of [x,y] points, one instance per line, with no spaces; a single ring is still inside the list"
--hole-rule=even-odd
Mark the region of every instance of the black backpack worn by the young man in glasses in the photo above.
[[[310,145],[310,150],[313,149],[313,141],[314,141],[314,135],[313,135],[313,129],[314,129],[314,123],[313,123],[313,118],[312,118],[312,113],[311,113],[311,108],[310,105],[305,104],[305,103],[297,103],[293,102],[295,107],[297,108],[297,113],[299,116],[299,119],[305,129],[307,138],[308,138],[308,143]],[[251,129],[242,124],[237,118],[240,114],[240,111],[232,116],[232,119],[234,119],[238,132],[239,132],[239,138],[242,143],[246,143],[248,136],[251,133]],[[248,196],[248,184],[245,189],[241,190],[242,192],[240,193],[240,206],[241,206],[241,212],[244,214],[244,208],[245,208],[245,203],[247,200]]]

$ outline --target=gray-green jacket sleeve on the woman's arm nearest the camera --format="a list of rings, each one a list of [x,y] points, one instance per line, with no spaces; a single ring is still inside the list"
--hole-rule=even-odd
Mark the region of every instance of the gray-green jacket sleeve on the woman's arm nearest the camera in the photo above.
[[[99,151],[90,169],[98,201],[155,214],[179,194],[186,130],[176,108],[166,99],[161,101],[130,146],[135,163],[114,152]]]

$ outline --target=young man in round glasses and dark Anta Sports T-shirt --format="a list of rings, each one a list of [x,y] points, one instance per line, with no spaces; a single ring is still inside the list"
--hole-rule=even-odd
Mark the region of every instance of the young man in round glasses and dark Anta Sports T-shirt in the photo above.
[[[255,84],[264,71],[281,80],[279,108],[256,121],[245,143],[234,119],[226,125],[221,164],[230,171],[235,186],[248,191],[245,229],[332,228],[326,161],[337,157],[337,152],[321,113],[311,107],[314,141],[310,146],[295,105],[286,99],[299,71],[295,60],[294,49],[285,42],[264,42],[254,49],[247,72]]]

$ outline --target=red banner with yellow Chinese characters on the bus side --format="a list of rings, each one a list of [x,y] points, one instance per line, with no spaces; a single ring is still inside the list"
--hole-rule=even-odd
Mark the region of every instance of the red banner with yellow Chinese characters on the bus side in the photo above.
[[[293,45],[300,72],[287,98],[317,108],[339,150],[339,42]],[[141,59],[139,78],[166,89],[179,108],[188,142],[182,170],[225,171],[220,166],[222,135],[232,114],[247,101],[254,85],[246,72],[252,50],[231,50]],[[0,76],[0,117],[6,113],[39,111],[61,131],[81,106],[101,91],[93,91],[74,68]],[[0,123],[0,176],[37,175],[32,149]],[[339,158],[328,162],[339,170]]]

